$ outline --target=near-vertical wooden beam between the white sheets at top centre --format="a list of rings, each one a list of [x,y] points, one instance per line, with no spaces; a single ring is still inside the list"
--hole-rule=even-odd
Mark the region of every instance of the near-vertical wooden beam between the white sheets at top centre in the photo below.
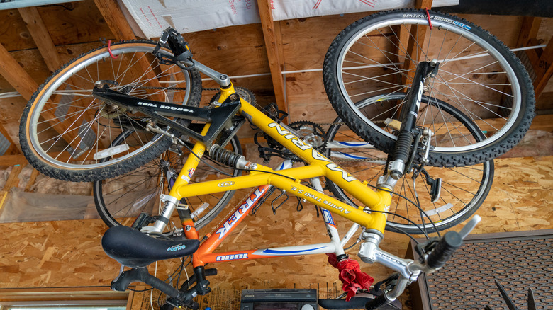
[[[281,73],[283,71],[283,62],[281,53],[279,53],[279,42],[277,40],[279,36],[274,26],[270,0],[257,0],[257,8],[259,8],[263,38],[265,40],[265,48],[267,49],[267,58],[269,59],[274,98],[277,101],[279,110],[288,113],[288,105],[284,96],[284,78]]]

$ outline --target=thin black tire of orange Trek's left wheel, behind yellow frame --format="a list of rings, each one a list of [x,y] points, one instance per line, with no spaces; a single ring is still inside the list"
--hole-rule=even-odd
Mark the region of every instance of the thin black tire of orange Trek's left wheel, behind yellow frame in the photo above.
[[[113,145],[117,145],[118,143],[119,141],[117,139],[113,141]],[[238,137],[234,136],[232,139],[230,139],[229,143],[233,145],[233,149],[237,154],[242,154],[242,145],[240,144],[240,140],[238,139]],[[138,169],[140,169],[140,167]],[[235,170],[235,176],[238,176],[238,174],[240,173],[240,171]],[[106,207],[106,202],[103,195],[104,192],[101,186],[102,182],[104,182],[104,180],[96,180],[93,182],[92,195],[94,197],[94,205],[96,206],[96,211],[107,226],[113,227],[121,225],[121,223],[118,222],[109,212],[108,207]],[[210,211],[206,217],[201,217],[201,219],[194,222],[194,226],[196,226],[196,229],[201,229],[203,226],[206,226],[209,222],[211,222],[224,209],[224,207],[228,205],[228,202],[230,202],[230,199],[232,199],[234,193],[235,190],[229,190],[225,192],[222,199],[219,200],[218,204],[212,208],[212,211]]]

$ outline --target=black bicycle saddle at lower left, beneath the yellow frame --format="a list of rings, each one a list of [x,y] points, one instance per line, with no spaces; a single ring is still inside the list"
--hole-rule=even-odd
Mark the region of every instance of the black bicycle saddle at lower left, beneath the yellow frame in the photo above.
[[[157,260],[189,256],[200,241],[157,239],[128,226],[113,226],[102,237],[104,252],[121,265],[141,268]]]

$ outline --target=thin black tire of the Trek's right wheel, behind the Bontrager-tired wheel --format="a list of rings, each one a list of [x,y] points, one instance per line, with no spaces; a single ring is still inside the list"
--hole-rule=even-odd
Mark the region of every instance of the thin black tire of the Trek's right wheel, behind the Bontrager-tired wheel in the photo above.
[[[376,96],[376,97],[378,97],[378,96]],[[423,98],[423,102],[425,102],[425,100],[426,100],[426,103],[428,103],[428,98]],[[430,101],[430,102],[434,102],[434,101]],[[435,103],[437,103],[437,102],[435,102]],[[473,134],[473,135],[478,134],[480,137],[483,136],[483,134],[481,132],[479,132],[479,130],[477,130],[476,127],[474,127],[474,123],[471,122],[471,120],[469,120],[469,118],[466,115],[464,115],[459,110],[457,110],[457,108],[449,106],[449,105],[447,105],[447,103],[442,103],[442,106],[440,108],[442,108],[442,110],[449,113],[450,115],[456,114],[457,117],[455,117],[455,118],[457,120],[460,120],[461,122],[464,122],[465,126],[469,125],[469,127],[467,127],[467,128],[469,129],[469,132],[471,132],[471,134]],[[340,119],[340,117],[338,117],[334,122],[335,123],[340,123],[341,121],[342,120]],[[326,138],[327,142],[333,141],[333,137],[335,137],[335,133],[337,132],[337,129],[339,127],[340,127],[340,125],[337,124],[337,125],[331,126],[328,129],[327,138]],[[483,180],[482,184],[484,184],[484,188],[482,188],[482,187],[479,188],[479,190],[478,190],[479,195],[477,197],[477,200],[472,204],[470,204],[470,203],[467,204],[467,205],[470,206],[469,209],[466,212],[464,212],[457,219],[454,219],[450,222],[435,223],[435,226],[437,227],[438,231],[442,231],[444,229],[449,229],[449,228],[451,228],[451,227],[453,227],[453,226],[455,226],[455,225],[457,225],[461,222],[464,222],[465,220],[469,219],[469,217],[471,217],[472,214],[474,214],[474,212],[476,212],[479,209],[479,207],[482,205],[482,203],[486,199],[486,196],[488,195],[489,191],[491,190],[491,186],[492,186],[492,183],[493,183],[493,174],[494,174],[493,159],[485,161],[483,164],[487,165],[487,166],[484,167],[484,170],[483,170],[484,173],[487,173],[487,175],[483,174],[483,176],[482,176],[482,180]],[[487,172],[486,172],[486,170],[487,170]],[[488,181],[484,182],[485,179],[487,179]],[[328,179],[326,179],[326,183],[328,185],[329,190],[333,193],[333,195],[335,195],[335,197],[337,197],[338,200],[342,200],[344,202],[349,203],[350,205],[354,205],[354,202],[352,202],[350,197],[345,195],[342,188],[340,188],[339,186],[337,186],[335,183],[333,183],[331,180],[328,180]],[[471,202],[472,202],[472,200],[471,200]],[[463,208],[462,210],[464,210],[465,208]],[[462,212],[462,210],[459,211],[459,212]],[[428,220],[428,219],[425,219],[425,220]],[[410,227],[406,227],[405,225],[403,225],[403,226],[401,226],[401,229],[397,229],[394,225],[396,225],[396,224],[393,224],[393,222],[387,222],[385,229],[387,231],[392,231],[392,232],[396,232],[396,233],[403,233],[403,231],[404,231],[407,234],[421,234],[421,229],[419,227],[416,227],[416,226],[413,226],[413,225],[410,225]],[[428,231],[432,231],[433,230],[432,225],[429,224],[428,226],[429,227],[427,227],[426,229]]]

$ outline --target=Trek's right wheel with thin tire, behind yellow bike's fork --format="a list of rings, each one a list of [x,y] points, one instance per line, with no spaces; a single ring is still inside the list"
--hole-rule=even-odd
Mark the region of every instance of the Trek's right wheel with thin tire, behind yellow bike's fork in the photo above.
[[[365,105],[374,104],[374,101],[387,104],[387,101],[402,100],[404,96],[406,96],[404,93],[375,96],[357,103],[357,107],[362,110]],[[483,134],[479,132],[469,117],[447,105],[447,103],[423,98],[420,108],[421,110],[429,110],[430,113],[433,113],[433,110],[440,110],[437,119],[432,122],[432,126],[429,126],[436,133],[432,137],[432,144],[440,142],[454,143],[454,141],[469,138],[473,142],[478,142],[483,137]],[[335,122],[340,123],[340,118]],[[454,132],[444,131],[443,129],[446,127],[456,129]],[[387,154],[375,149],[345,125],[336,124],[330,127],[327,134],[327,150],[330,159],[339,163],[340,166],[343,166],[346,171],[359,180],[367,180],[372,185],[376,185],[376,179],[384,173]],[[412,172],[407,173],[396,184],[396,195],[393,195],[389,209],[389,212],[393,214],[388,215],[386,230],[421,234],[421,229],[434,230],[430,220],[435,223],[438,231],[448,229],[468,219],[476,212],[488,195],[493,182],[492,160],[466,167],[426,166],[424,171],[427,174],[421,173],[415,179],[414,185]],[[442,178],[440,200],[437,200],[437,202],[431,202],[429,178]],[[360,204],[335,183],[330,180],[327,180],[327,182],[330,190],[338,199],[353,205]],[[415,190],[418,193],[420,207],[426,214],[420,212],[417,207]],[[426,215],[429,218],[426,218]]]

